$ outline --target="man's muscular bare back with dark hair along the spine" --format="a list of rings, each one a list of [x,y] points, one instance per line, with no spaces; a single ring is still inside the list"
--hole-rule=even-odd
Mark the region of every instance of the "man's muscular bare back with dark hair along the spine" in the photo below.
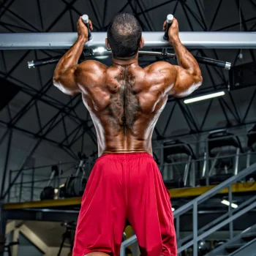
[[[164,76],[152,71],[138,64],[106,67],[97,61],[77,70],[83,102],[97,130],[99,155],[151,153],[154,126],[167,101]]]

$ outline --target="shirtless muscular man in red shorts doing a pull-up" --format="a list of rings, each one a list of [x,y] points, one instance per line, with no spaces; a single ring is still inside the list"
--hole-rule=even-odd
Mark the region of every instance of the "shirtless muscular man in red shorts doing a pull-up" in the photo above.
[[[78,39],[54,72],[53,83],[61,91],[82,94],[98,140],[99,158],[82,198],[73,256],[117,256],[126,219],[142,255],[177,255],[170,195],[152,157],[151,136],[167,97],[191,94],[202,77],[181,44],[176,19],[168,32],[179,66],[159,61],[141,68],[141,31],[133,15],[116,15],[106,39],[112,66],[91,60],[78,64],[88,39],[80,18]]]

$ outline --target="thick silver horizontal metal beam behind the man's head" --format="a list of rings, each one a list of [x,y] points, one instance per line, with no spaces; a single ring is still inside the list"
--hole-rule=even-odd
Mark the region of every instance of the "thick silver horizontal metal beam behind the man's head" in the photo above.
[[[163,32],[143,32],[144,48],[171,48],[170,42],[163,39]],[[180,32],[181,42],[187,48],[256,48],[255,32],[200,31]],[[85,48],[105,45],[106,32],[93,33]],[[1,34],[0,50],[69,49],[78,38],[77,33],[8,33]]]

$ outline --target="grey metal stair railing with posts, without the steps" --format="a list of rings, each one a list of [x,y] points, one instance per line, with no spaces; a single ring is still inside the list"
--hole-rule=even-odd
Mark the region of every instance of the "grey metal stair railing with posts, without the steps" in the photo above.
[[[200,230],[197,229],[198,206],[200,205],[200,203],[203,203],[209,198],[214,197],[214,195],[217,195],[217,193],[221,192],[226,187],[228,187],[228,200],[229,202],[232,202],[233,201],[232,188],[231,188],[232,184],[235,184],[237,181],[241,181],[242,179],[246,178],[246,176],[249,176],[250,174],[255,173],[255,171],[256,171],[256,163],[249,167],[246,167],[245,170],[238,172],[236,176],[232,176],[228,178],[226,181],[223,181],[221,184],[217,185],[213,189],[208,190],[208,192],[204,193],[203,195],[200,195],[199,197],[196,197],[194,200],[191,200],[189,203],[186,203],[184,206],[181,206],[180,208],[178,208],[176,211],[173,212],[173,217],[174,219],[176,219],[176,237],[177,237],[177,244],[178,244],[178,253],[181,253],[185,249],[189,248],[190,246],[193,246],[193,255],[197,256],[197,242],[203,238],[206,238],[211,233],[214,233],[215,231],[219,230],[219,228],[224,227],[227,224],[229,224],[230,238],[233,237],[233,221],[238,217],[241,217],[241,215],[246,214],[248,211],[256,207],[256,200],[255,200],[256,196],[249,198],[249,200],[246,200],[236,209],[232,209],[231,203],[230,203],[230,205],[228,206],[227,214],[222,215],[218,219],[214,219],[213,222],[200,228]],[[189,235],[186,238],[183,238],[181,241],[179,241],[180,217],[182,214],[185,214],[191,210],[193,214],[192,235]],[[184,243],[186,241],[187,241],[186,244],[179,246],[181,242]],[[137,237],[135,235],[127,239],[126,241],[124,241],[121,244],[120,255],[124,256],[125,248],[131,244],[134,244],[135,242],[137,242]]]

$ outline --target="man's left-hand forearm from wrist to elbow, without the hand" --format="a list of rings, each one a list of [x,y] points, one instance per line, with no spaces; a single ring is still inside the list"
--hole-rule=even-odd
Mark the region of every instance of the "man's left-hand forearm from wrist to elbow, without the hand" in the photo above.
[[[88,39],[85,37],[78,37],[72,48],[70,48],[67,53],[64,54],[64,56],[57,64],[54,72],[54,78],[59,78],[67,69],[71,67],[75,68],[75,66],[78,64],[80,56],[83,52],[84,44],[87,42],[87,40]]]

